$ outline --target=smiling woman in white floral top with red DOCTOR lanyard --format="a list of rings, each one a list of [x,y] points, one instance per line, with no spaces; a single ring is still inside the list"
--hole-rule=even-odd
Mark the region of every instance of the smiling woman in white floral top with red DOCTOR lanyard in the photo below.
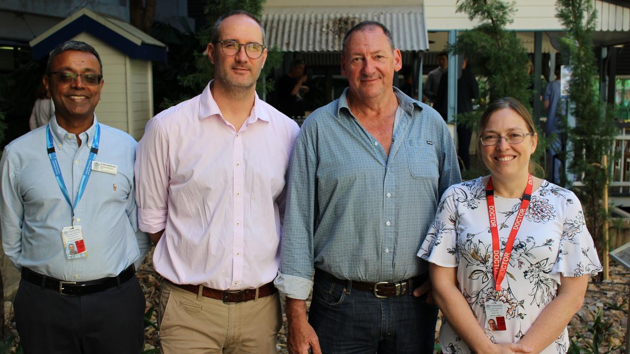
[[[566,353],[566,325],[601,270],[580,201],[529,174],[538,137],[517,100],[492,103],[479,127],[490,176],[445,191],[418,251],[446,319],[442,351]]]

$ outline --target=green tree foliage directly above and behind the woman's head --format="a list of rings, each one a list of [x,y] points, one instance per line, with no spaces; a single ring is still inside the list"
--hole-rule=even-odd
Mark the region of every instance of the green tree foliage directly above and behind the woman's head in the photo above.
[[[450,50],[463,54],[474,71],[488,80],[490,102],[512,96],[529,106],[527,50],[514,31],[505,30],[512,23],[513,3],[501,0],[457,0],[457,12],[478,20],[473,30],[459,33],[457,43]]]

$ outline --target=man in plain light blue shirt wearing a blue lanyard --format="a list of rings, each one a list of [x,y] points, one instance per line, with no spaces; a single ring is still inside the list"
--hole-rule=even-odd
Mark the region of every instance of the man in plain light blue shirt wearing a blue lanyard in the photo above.
[[[14,300],[25,353],[139,353],[145,299],[135,278],[150,246],[137,226],[135,140],[98,123],[101,60],[84,42],[50,54],[49,125],[5,147],[4,252],[21,270]]]

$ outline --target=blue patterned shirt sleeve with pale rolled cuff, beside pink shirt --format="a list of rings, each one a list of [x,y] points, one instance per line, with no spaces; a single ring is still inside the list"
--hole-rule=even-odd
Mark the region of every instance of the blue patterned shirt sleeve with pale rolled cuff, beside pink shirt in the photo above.
[[[306,299],[309,296],[314,269],[317,156],[308,130],[302,128],[289,163],[280,270],[275,279],[280,293],[292,299]]]

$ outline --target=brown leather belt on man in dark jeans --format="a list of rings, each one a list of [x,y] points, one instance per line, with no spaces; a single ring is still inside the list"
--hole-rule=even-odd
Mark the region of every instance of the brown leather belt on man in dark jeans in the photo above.
[[[343,280],[335,277],[334,275],[327,273],[326,271],[316,269],[315,270],[315,279],[321,277],[329,282],[335,283],[348,283],[350,280]],[[386,297],[400,296],[400,295],[411,295],[413,294],[413,290],[416,287],[419,287],[426,279],[428,278],[428,273],[419,275],[418,277],[409,278],[406,280],[401,280],[400,282],[355,282],[352,280],[352,285],[350,286],[352,290],[359,291],[368,291],[374,293],[374,296],[379,299],[384,299]]]

